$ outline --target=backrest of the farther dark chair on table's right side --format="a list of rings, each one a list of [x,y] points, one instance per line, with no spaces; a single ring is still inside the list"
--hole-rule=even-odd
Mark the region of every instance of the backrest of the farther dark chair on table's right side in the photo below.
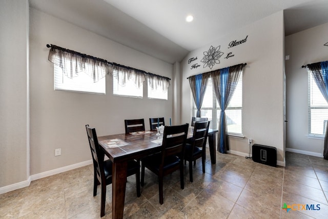
[[[210,128],[210,121],[195,122],[194,133],[192,137],[193,147],[203,148],[206,146],[207,134]]]

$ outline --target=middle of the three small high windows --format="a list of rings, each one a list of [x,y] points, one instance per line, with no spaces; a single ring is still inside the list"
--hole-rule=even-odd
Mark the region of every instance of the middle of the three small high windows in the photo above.
[[[120,96],[129,96],[129,97],[143,97],[144,86],[142,83],[139,84],[139,88],[135,82],[135,76],[131,78],[126,78],[123,83],[120,83],[120,78],[126,76],[121,71],[113,72],[113,94]]]

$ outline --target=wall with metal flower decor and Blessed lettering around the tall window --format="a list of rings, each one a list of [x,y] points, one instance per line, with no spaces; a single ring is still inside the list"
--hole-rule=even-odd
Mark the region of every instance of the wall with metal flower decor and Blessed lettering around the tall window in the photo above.
[[[228,48],[230,42],[244,39],[247,35],[247,42]],[[190,52],[181,62],[183,74],[182,122],[189,122],[191,117],[190,86],[186,78],[211,71],[210,68],[203,68],[203,64],[200,62],[203,52],[207,51],[210,46],[221,46],[220,51],[224,54],[220,58],[220,64],[214,65],[212,70],[247,63],[242,78],[244,138],[230,136],[230,152],[248,155],[248,138],[252,138],[253,144],[276,147],[277,164],[284,166],[283,42],[283,12],[280,11],[229,33],[212,44]],[[228,52],[232,52],[234,56],[228,59],[224,58]],[[197,61],[193,64],[198,63],[200,67],[191,69],[188,59],[196,56]]]

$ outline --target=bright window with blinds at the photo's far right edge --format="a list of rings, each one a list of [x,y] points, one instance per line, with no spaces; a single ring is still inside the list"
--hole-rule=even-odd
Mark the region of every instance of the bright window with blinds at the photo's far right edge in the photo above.
[[[309,134],[323,137],[328,120],[328,104],[321,94],[311,72],[308,73],[308,78]]]

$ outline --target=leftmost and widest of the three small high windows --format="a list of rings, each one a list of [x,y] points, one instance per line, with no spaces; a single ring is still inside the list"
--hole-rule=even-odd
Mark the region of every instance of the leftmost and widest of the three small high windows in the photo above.
[[[70,65],[69,62],[68,65]],[[106,78],[103,77],[98,82],[93,82],[93,78],[83,71],[69,78],[63,74],[63,70],[59,66],[54,65],[54,89],[105,94]]]

